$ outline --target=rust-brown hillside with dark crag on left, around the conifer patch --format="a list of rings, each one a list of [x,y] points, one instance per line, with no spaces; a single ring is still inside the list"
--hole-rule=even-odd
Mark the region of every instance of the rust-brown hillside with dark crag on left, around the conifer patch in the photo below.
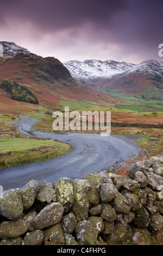
[[[74,79],[58,59],[23,53],[22,47],[20,53],[17,51],[12,51],[10,58],[0,57],[0,82],[10,78],[29,89],[40,102],[38,109],[64,106],[70,106],[71,109],[101,107],[115,103],[111,95],[87,88]],[[21,102],[20,105],[20,102],[11,100],[3,89],[0,89],[0,105],[1,113],[19,114],[36,109],[33,104]]]

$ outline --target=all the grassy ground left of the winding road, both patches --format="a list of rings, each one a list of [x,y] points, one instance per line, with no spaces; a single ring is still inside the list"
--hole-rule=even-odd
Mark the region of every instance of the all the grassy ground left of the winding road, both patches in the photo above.
[[[54,159],[72,150],[70,144],[21,135],[11,125],[19,119],[14,115],[0,115],[0,168]]]

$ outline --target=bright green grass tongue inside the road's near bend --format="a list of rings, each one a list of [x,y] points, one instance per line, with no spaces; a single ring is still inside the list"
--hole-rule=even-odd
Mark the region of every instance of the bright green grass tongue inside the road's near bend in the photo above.
[[[1,139],[0,143],[0,168],[54,159],[72,149],[69,144],[33,138]]]

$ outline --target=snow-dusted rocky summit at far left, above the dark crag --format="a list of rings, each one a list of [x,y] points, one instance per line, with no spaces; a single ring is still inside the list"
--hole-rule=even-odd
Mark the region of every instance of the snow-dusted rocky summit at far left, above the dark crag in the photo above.
[[[17,53],[30,54],[26,48],[16,45],[14,42],[0,41],[1,57],[13,58]]]

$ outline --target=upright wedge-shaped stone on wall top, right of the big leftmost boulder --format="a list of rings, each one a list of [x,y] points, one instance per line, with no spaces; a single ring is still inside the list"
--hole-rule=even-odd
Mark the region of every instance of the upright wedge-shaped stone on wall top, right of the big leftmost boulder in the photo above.
[[[20,188],[24,209],[29,209],[33,205],[38,189],[39,182],[36,180],[31,180],[24,187]]]

